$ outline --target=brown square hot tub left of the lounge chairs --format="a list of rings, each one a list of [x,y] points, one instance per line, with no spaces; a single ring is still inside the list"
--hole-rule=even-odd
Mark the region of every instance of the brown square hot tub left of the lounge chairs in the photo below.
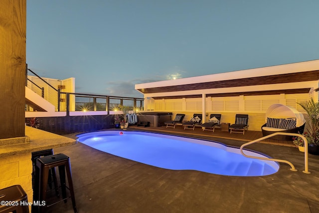
[[[138,114],[138,123],[150,122],[151,127],[160,127],[165,121],[171,120],[171,112],[140,112]]]

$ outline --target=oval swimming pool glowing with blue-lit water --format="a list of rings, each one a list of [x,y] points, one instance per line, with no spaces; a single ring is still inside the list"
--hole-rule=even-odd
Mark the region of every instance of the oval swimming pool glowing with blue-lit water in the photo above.
[[[197,170],[226,176],[266,176],[279,170],[279,164],[274,161],[246,158],[239,148],[194,138],[137,131],[101,131],[77,137],[78,142],[103,152],[170,170]],[[252,151],[244,152],[269,158]]]

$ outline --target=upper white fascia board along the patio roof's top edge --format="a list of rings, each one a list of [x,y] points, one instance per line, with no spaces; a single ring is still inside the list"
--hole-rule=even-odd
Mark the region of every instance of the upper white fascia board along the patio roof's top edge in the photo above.
[[[268,66],[254,69],[246,69],[232,72],[224,72],[210,75],[202,75],[189,78],[179,78],[175,80],[156,81],[142,84],[135,84],[135,89],[175,86],[193,83],[214,82],[232,79],[252,78],[269,75],[279,75],[287,73],[305,72],[319,69],[319,60],[304,61],[277,66]]]

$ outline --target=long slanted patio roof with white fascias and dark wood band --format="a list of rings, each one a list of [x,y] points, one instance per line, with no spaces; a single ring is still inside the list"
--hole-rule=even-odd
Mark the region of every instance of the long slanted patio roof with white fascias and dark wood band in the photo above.
[[[136,84],[154,99],[309,93],[318,87],[319,60]]]

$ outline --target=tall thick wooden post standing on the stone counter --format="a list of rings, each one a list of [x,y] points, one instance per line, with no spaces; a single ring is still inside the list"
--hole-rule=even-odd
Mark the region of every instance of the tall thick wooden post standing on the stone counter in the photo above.
[[[0,139],[25,136],[26,0],[0,0]]]

